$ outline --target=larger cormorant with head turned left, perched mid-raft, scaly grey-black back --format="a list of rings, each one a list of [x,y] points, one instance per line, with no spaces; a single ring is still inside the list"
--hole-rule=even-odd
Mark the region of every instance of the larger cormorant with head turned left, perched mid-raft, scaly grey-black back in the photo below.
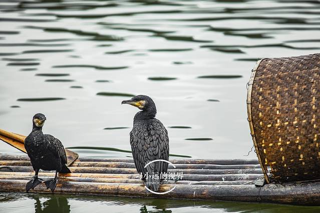
[[[130,132],[130,144],[134,163],[138,173],[143,174],[146,186],[153,191],[159,189],[160,178],[152,178],[152,175],[166,173],[168,163],[156,161],[145,165],[152,160],[169,160],[169,137],[168,131],[162,122],[155,118],[157,109],[153,100],[146,95],[137,95],[127,103],[138,107],[141,111],[137,112],[133,119],[133,128]],[[155,176],[154,175],[154,176]]]

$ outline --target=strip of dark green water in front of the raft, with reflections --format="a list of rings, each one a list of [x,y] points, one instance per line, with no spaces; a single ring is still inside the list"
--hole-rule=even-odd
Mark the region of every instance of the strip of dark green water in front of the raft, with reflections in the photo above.
[[[106,196],[0,193],[0,210],[11,212],[319,212],[320,207],[240,202]]]

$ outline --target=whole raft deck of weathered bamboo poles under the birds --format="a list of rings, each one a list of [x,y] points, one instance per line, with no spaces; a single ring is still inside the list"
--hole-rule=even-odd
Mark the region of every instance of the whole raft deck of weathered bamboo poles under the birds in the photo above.
[[[245,202],[272,202],[319,205],[320,182],[267,184],[253,181],[262,177],[257,160],[175,159],[168,172],[183,172],[182,179],[161,184],[159,192],[147,191],[132,160],[79,158],[71,166],[73,173],[59,174],[55,193],[96,194],[138,197],[209,199]],[[27,155],[0,154],[0,191],[24,192],[34,175]],[[52,171],[40,171],[39,177],[54,177]],[[44,184],[30,192],[51,193]]]

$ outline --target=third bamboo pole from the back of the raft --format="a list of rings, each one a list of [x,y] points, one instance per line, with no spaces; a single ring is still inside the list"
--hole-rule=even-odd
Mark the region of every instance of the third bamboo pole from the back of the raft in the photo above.
[[[31,172],[31,166],[9,166],[12,171]],[[69,167],[74,173],[115,173],[115,174],[135,174],[135,168],[106,168],[106,167]],[[1,169],[0,169],[1,170]],[[169,172],[183,172],[183,174],[262,174],[259,168],[246,169],[168,169]]]

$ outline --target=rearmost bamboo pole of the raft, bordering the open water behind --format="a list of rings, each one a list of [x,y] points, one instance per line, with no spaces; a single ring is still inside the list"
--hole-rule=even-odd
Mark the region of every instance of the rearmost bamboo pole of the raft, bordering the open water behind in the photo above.
[[[29,160],[25,155],[0,154],[0,160]],[[78,161],[94,161],[94,162],[131,162],[133,159],[110,159],[95,157],[80,157]],[[256,159],[170,159],[173,164],[216,164],[216,165],[256,165],[259,164]]]

